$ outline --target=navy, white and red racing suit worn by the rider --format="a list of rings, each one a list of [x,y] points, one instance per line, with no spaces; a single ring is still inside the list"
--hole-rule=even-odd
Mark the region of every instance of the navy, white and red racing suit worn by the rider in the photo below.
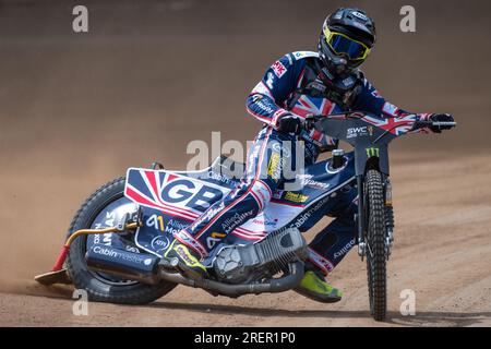
[[[203,257],[214,248],[217,237],[225,238],[255,217],[285,182],[280,166],[279,170],[272,170],[273,158],[276,165],[278,163],[275,154],[284,157],[287,153],[283,148],[285,141],[303,141],[306,165],[313,164],[320,153],[336,147],[337,140],[316,131],[303,130],[298,136],[279,132],[277,122],[282,116],[294,113],[304,118],[351,110],[386,118],[407,115],[381,97],[360,71],[339,79],[342,81],[330,80],[321,69],[318,53],[310,51],[285,55],[267,69],[247,99],[248,112],[264,125],[249,149],[243,178],[235,190],[214,203],[190,227],[176,233],[181,243]],[[428,116],[417,115],[419,119]],[[325,214],[335,219],[309,245],[309,262],[324,274],[328,274],[356,244],[356,189],[344,191],[327,202]]]

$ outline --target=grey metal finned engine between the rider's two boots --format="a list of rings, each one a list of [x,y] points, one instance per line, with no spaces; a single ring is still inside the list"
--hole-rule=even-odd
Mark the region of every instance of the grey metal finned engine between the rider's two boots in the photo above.
[[[246,284],[285,270],[289,262],[307,257],[307,242],[297,228],[271,232],[248,245],[226,245],[213,268],[223,282]]]

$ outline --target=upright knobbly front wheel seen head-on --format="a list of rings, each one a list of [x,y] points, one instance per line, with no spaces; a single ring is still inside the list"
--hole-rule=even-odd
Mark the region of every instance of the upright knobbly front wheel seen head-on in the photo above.
[[[382,174],[369,170],[364,182],[367,205],[367,274],[370,312],[374,320],[383,321],[387,310],[385,206]]]

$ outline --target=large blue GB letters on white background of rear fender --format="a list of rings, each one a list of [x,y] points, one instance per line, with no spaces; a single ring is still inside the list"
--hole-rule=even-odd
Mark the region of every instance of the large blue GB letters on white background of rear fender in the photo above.
[[[227,191],[189,179],[176,179],[164,186],[160,197],[165,203],[202,213],[209,207],[211,202],[220,200]]]

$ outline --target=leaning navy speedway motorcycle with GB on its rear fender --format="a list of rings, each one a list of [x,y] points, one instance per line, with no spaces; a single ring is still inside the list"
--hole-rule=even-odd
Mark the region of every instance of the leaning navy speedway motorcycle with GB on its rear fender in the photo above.
[[[387,146],[419,128],[443,124],[456,125],[362,112],[310,117],[309,128],[347,142],[354,151],[335,149],[331,159],[307,167],[301,190],[277,190],[259,216],[217,239],[204,261],[209,276],[200,280],[179,274],[177,260],[163,257],[164,251],[173,232],[239,183],[237,173],[244,165],[221,156],[200,171],[172,171],[156,163],[130,168],[125,177],[106,183],[85,201],[51,272],[35,279],[44,285],[73,284],[92,300],[125,304],[149,303],[178,284],[232,298],[295,289],[307,260],[302,233],[323,218],[323,208],[338,191],[355,186],[358,253],[367,258],[371,314],[382,321],[394,241]]]

